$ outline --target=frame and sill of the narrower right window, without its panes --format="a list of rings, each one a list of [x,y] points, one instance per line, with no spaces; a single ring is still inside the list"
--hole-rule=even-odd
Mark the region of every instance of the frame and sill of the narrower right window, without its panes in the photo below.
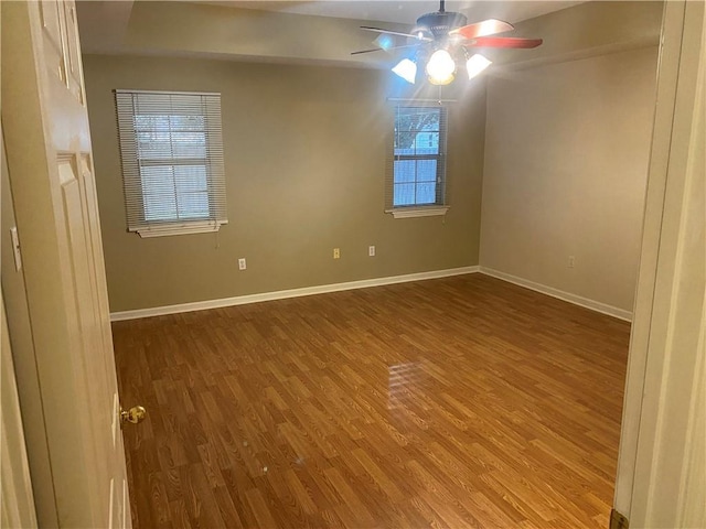
[[[395,153],[395,136],[397,134],[398,128],[398,119],[399,111],[402,108],[411,108],[411,109],[438,109],[439,110],[439,142],[438,142],[438,153],[420,153],[420,154],[397,154]],[[408,217],[426,217],[426,216],[438,216],[446,215],[449,209],[448,204],[448,173],[447,173],[447,159],[448,159],[448,121],[449,121],[449,109],[447,105],[440,105],[435,101],[426,102],[426,101],[416,101],[410,100],[404,104],[395,104],[393,108],[393,133],[391,134],[391,141],[388,147],[388,164],[387,164],[387,174],[386,174],[386,199],[385,199],[385,213],[392,214],[394,218],[408,218]],[[419,130],[416,134],[424,132],[424,130]],[[436,131],[434,131],[436,132]],[[416,142],[416,136],[415,136]],[[395,205],[395,191],[396,185],[396,174],[395,174],[395,162],[405,161],[405,160],[414,160],[414,161],[425,161],[425,160],[435,160],[437,162],[436,168],[436,188],[435,194],[436,198],[434,203],[415,203],[415,204],[404,204],[404,205]],[[415,177],[414,184],[417,185],[419,180]]]

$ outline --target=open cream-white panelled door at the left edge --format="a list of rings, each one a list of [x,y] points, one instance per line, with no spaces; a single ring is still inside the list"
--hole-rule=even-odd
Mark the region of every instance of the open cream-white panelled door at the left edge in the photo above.
[[[54,489],[38,511],[130,527],[75,6],[1,9],[2,127]]]

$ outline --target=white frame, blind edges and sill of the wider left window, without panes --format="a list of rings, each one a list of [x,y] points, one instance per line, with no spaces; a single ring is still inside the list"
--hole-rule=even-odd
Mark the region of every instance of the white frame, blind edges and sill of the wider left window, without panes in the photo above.
[[[161,237],[171,235],[186,235],[217,231],[227,224],[225,204],[225,171],[223,160],[223,138],[221,119],[221,94],[192,91],[156,91],[116,89],[116,111],[118,118],[118,138],[120,143],[120,160],[126,205],[127,230],[137,233],[140,237]],[[141,126],[138,116],[167,117],[167,127]],[[189,126],[173,126],[175,117],[200,117],[203,125],[190,130]],[[175,120],[174,120],[175,121]],[[179,127],[184,127],[180,129]],[[139,136],[141,132],[163,134],[168,138],[170,155],[160,158],[159,154],[142,151]],[[175,151],[174,137],[176,133],[203,133],[204,155],[180,155]],[[197,142],[186,143],[186,148],[194,148]],[[172,218],[148,218],[148,195],[154,195],[156,187],[146,191],[148,177],[159,179],[157,174],[149,174],[147,168],[168,168],[168,174],[162,180],[173,185],[172,191],[159,190],[162,198],[173,201],[175,215]],[[193,173],[186,174],[181,187],[178,168],[194,168]],[[200,187],[195,179],[197,168],[205,173],[205,188]],[[169,174],[171,169],[171,174]],[[171,179],[171,180],[170,180]],[[195,190],[189,190],[195,184]],[[159,186],[159,184],[154,184]],[[169,185],[167,190],[169,190]],[[179,216],[180,202],[189,194],[206,194],[207,213],[189,218]],[[159,196],[158,196],[159,198]]]

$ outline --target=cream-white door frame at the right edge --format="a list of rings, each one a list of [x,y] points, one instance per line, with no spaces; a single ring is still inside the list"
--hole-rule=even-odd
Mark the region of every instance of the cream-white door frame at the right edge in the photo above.
[[[704,8],[703,0],[664,4],[613,501],[634,527],[685,527],[699,516],[694,501],[706,497],[698,463],[706,441],[695,430],[704,428],[696,404],[706,385]],[[700,483],[696,497],[687,497],[687,483]]]

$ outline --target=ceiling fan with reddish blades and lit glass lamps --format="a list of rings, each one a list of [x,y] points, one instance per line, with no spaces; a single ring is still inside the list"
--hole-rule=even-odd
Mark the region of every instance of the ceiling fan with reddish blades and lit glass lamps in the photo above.
[[[414,84],[417,63],[425,64],[429,83],[448,85],[456,78],[457,64],[466,63],[469,78],[485,69],[492,62],[469,50],[477,47],[532,48],[542,44],[542,39],[520,39],[512,36],[490,36],[511,31],[514,26],[502,20],[488,19],[468,24],[462,13],[446,11],[445,0],[439,1],[439,11],[422,14],[409,33],[362,25],[361,29],[379,33],[375,39],[377,47],[352,52],[360,55],[373,52],[407,50],[407,56],[393,69],[395,74]],[[405,44],[397,44],[398,37],[406,37]]]

